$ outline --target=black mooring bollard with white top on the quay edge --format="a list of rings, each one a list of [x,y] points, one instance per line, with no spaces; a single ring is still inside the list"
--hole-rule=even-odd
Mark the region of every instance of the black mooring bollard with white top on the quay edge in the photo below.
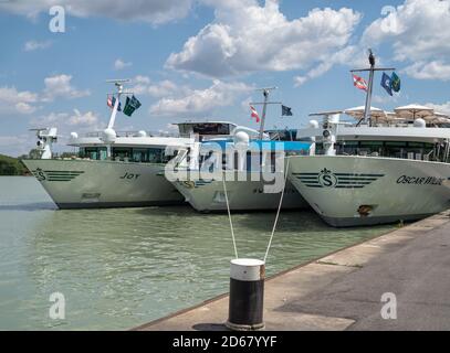
[[[264,328],[264,261],[251,258],[231,260],[227,328],[236,331]]]

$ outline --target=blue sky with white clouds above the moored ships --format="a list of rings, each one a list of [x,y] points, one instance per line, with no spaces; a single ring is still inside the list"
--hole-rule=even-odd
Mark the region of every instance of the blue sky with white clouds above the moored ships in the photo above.
[[[294,116],[273,106],[266,128],[301,127],[310,113],[364,104],[348,71],[368,46],[402,84],[391,98],[378,75],[374,106],[450,113],[450,0],[61,0],[64,33],[49,29],[54,3],[0,1],[0,153],[28,152],[34,127],[103,129],[107,78],[130,78],[143,104],[116,130],[205,118],[258,128],[248,103],[273,85]]]

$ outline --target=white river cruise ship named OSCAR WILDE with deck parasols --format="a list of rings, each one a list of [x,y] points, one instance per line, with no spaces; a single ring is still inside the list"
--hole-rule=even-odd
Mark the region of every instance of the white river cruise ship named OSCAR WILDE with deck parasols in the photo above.
[[[323,113],[322,126],[297,130],[314,140],[310,156],[289,157],[289,179],[333,226],[411,221],[450,207],[450,119],[384,113],[368,124],[343,124]],[[379,110],[379,109],[378,109]],[[412,109],[414,110],[414,109]]]

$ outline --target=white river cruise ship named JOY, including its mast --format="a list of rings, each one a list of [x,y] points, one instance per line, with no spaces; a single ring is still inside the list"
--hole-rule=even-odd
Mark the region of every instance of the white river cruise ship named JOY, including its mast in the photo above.
[[[230,136],[237,127],[227,121],[180,122],[175,137],[146,131],[116,132],[123,81],[115,81],[117,94],[108,127],[79,136],[72,132],[69,146],[79,149],[72,158],[54,158],[56,129],[38,130],[41,159],[23,163],[60,208],[153,206],[184,203],[184,196],[165,178],[166,163],[195,136],[201,140]]]

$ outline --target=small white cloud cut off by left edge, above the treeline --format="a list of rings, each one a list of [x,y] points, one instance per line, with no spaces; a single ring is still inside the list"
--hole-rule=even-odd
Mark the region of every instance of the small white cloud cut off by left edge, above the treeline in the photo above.
[[[19,92],[15,87],[0,87],[0,114],[10,115],[14,113],[31,114],[36,110],[34,105],[38,101],[38,94],[22,90]]]

